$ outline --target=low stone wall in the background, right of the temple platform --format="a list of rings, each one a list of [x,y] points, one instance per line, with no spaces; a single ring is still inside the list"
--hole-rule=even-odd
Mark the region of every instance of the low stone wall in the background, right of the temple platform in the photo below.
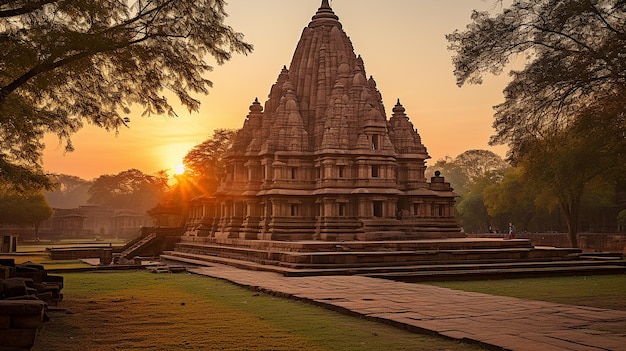
[[[468,234],[468,237],[503,237],[504,234]],[[535,246],[570,247],[567,233],[518,233],[520,239],[530,239]],[[626,253],[626,234],[623,233],[579,233],[578,247],[586,252]]]

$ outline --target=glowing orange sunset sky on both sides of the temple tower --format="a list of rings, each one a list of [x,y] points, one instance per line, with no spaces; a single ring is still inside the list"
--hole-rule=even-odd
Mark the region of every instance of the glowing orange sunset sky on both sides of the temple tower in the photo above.
[[[176,109],[179,117],[130,115],[118,135],[87,126],[73,137],[76,151],[64,153],[46,138],[44,168],[93,179],[130,168],[144,173],[173,168],[187,151],[217,128],[240,128],[256,97],[263,104],[283,65],[289,65],[302,29],[320,0],[230,0],[227,23],[255,47],[215,66],[214,86],[201,97],[199,113]],[[387,118],[399,98],[432,160],[455,157],[487,145],[493,134],[492,106],[502,102],[507,76],[458,88],[445,34],[463,29],[472,9],[497,9],[495,0],[334,0],[331,6],[377,82]]]

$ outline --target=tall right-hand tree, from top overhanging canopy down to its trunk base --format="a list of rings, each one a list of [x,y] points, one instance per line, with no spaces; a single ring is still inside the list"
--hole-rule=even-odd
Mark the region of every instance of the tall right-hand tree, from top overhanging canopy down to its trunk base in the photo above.
[[[573,246],[586,185],[626,170],[625,10],[623,0],[516,1],[493,17],[475,11],[447,36],[459,86],[525,54],[490,143],[508,144],[511,161],[553,192]]]

